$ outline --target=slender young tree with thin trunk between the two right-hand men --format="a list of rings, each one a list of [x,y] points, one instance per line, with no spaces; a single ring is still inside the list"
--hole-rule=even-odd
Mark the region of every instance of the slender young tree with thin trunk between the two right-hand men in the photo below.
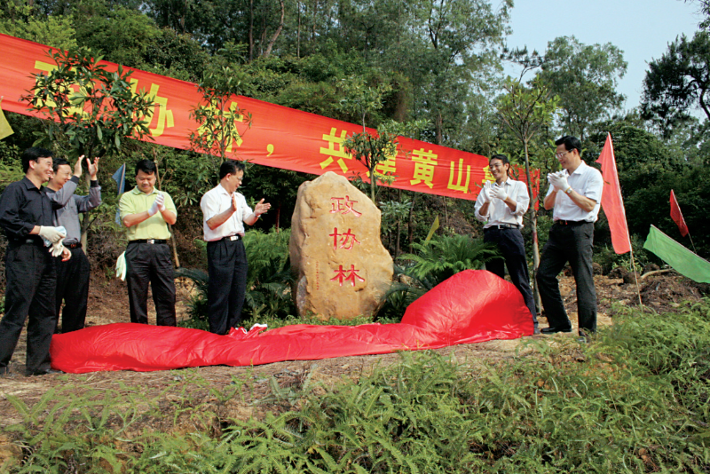
[[[528,194],[531,197],[528,214],[533,231],[533,291],[535,303],[541,307],[536,278],[540,266],[540,247],[538,245],[537,210],[535,210],[535,201],[539,200],[540,196],[536,200],[532,199],[533,181],[530,172],[529,149],[533,138],[540,133],[540,130],[554,122],[559,98],[553,97],[548,88],[537,78],[529,87],[519,81],[509,79],[504,85],[504,90],[507,93],[501,96],[498,101],[498,115],[501,122],[520,140],[524,149],[525,180]]]

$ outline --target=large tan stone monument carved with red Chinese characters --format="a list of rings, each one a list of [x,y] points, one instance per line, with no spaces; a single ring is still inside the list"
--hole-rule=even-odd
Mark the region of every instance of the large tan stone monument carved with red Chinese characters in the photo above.
[[[392,280],[380,219],[380,209],[333,172],[298,188],[288,249],[301,317],[351,320],[380,309]]]

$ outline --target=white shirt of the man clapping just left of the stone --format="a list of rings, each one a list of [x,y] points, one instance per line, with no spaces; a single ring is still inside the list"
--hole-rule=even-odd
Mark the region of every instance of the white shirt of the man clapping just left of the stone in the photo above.
[[[205,241],[218,241],[237,233],[244,235],[244,219],[249,217],[253,211],[248,207],[247,200],[244,199],[243,194],[235,191],[234,195],[237,196],[237,210],[224,224],[214,230],[209,228],[207,221],[232,207],[232,194],[227,193],[227,190],[219,184],[202,196],[200,207],[202,209],[202,227],[205,233]]]

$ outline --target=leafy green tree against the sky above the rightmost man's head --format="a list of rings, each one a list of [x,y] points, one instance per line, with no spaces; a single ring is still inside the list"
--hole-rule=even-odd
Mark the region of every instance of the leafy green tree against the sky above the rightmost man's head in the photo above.
[[[589,126],[621,107],[624,96],[616,91],[627,71],[622,51],[611,43],[585,45],[574,36],[548,43],[540,83],[560,98],[561,124],[581,140]]]

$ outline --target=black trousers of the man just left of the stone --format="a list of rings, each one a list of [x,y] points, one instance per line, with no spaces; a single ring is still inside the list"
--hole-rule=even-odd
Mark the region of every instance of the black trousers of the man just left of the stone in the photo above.
[[[240,325],[247,293],[247,254],[241,239],[207,242],[207,265],[209,332],[227,334]]]

